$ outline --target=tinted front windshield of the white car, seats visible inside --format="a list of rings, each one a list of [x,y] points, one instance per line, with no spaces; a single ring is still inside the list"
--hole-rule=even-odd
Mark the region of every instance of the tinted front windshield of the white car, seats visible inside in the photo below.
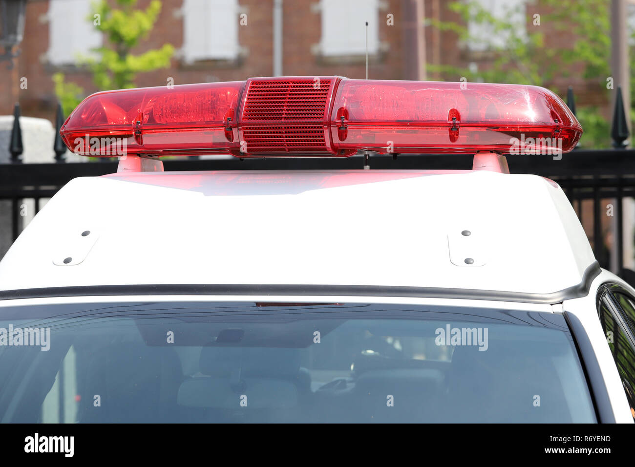
[[[0,308],[4,423],[592,423],[562,315],[364,303]]]

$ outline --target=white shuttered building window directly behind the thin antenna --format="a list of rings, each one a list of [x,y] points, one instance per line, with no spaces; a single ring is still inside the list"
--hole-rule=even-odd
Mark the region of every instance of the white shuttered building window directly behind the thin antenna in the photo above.
[[[366,53],[366,22],[368,22],[368,53],[379,50],[378,0],[321,0],[321,53],[334,55],[364,55]]]

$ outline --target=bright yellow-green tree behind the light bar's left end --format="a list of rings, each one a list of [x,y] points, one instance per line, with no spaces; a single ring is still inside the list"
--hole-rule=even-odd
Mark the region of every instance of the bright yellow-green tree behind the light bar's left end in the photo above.
[[[104,34],[105,44],[93,50],[94,57],[79,57],[78,64],[90,70],[98,90],[134,88],[138,73],[169,67],[174,53],[171,44],[137,55],[131,53],[154,27],[161,12],[160,0],[152,0],[145,10],[135,8],[137,0],[116,0],[116,4],[119,8],[111,8],[107,0],[93,3],[95,13],[86,18]],[[53,81],[64,114],[69,115],[86,97],[84,90],[65,82],[61,73],[54,74]]]

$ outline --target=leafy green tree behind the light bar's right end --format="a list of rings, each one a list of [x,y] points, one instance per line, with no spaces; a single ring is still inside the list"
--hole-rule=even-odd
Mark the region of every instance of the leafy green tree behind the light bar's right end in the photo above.
[[[533,6],[533,8],[532,8]],[[532,11],[540,10],[540,24]],[[544,7],[544,8],[543,8]],[[511,11],[491,11],[474,0],[452,1],[448,8],[457,13],[461,22],[432,22],[432,27],[455,32],[464,43],[480,43],[487,50],[486,65],[482,69],[427,65],[429,71],[439,72],[452,81],[465,76],[469,81],[517,83],[554,89],[553,83],[582,74],[596,81],[598,92],[608,100],[606,78],[610,76],[610,0],[540,0],[526,7],[526,29],[510,22]],[[474,37],[465,26],[468,22],[483,25],[491,35]],[[545,46],[543,26],[549,24],[566,41],[558,46]],[[492,36],[504,37],[504,46],[491,41]],[[634,64],[635,65],[635,64]],[[597,107],[577,108],[577,116],[584,128],[581,146],[609,146],[609,123]]]

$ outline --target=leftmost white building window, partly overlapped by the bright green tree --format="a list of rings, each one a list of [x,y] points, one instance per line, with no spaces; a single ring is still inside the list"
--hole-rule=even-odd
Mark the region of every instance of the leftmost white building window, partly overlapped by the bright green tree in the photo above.
[[[102,46],[102,33],[91,21],[91,3],[86,0],[51,0],[48,7],[48,61],[72,65],[79,57],[90,57]]]

